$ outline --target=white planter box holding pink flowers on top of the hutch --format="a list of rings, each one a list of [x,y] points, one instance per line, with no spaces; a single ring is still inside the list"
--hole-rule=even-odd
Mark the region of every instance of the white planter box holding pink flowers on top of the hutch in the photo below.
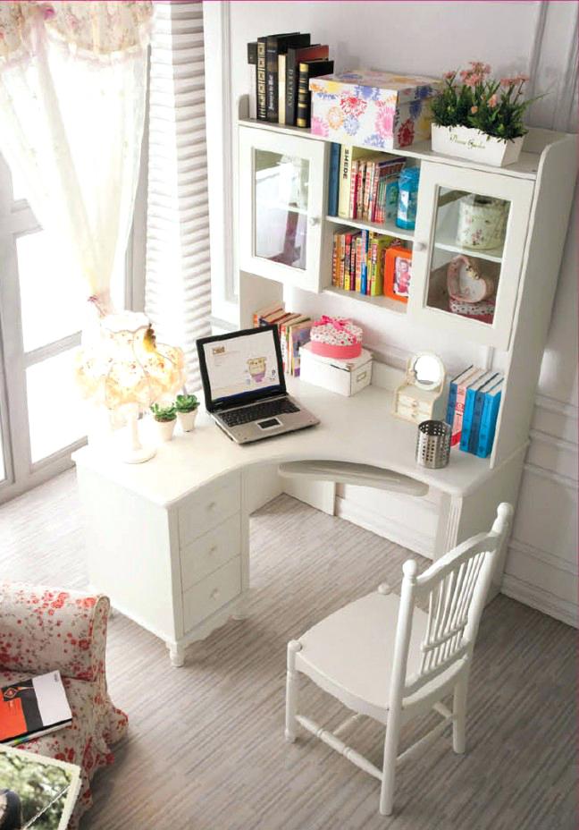
[[[471,127],[440,127],[432,124],[432,149],[445,156],[506,167],[515,164],[522,148],[523,136],[512,141],[501,141]]]

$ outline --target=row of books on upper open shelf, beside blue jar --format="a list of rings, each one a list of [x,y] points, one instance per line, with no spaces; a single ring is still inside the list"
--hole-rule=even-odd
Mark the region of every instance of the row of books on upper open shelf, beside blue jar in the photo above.
[[[404,164],[400,156],[332,144],[328,215],[378,224],[395,222]]]

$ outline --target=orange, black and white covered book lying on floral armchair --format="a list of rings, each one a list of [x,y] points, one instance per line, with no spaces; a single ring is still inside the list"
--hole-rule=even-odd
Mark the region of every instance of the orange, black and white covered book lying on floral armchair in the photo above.
[[[71,721],[60,672],[40,674],[0,690],[0,743],[31,741]]]

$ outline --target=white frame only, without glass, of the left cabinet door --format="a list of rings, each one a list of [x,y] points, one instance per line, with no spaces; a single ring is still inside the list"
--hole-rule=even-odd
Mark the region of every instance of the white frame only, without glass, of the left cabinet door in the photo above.
[[[306,291],[319,292],[323,206],[326,198],[327,142],[251,127],[239,127],[239,266]],[[273,262],[256,255],[255,151],[287,154],[308,162],[307,248],[305,269]]]

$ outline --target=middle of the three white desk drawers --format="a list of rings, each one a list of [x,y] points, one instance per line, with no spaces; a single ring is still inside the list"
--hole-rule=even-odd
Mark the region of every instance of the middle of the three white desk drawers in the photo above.
[[[208,530],[203,536],[180,549],[181,580],[183,591],[205,579],[223,564],[239,556],[241,529],[239,513],[234,513],[219,527]]]

